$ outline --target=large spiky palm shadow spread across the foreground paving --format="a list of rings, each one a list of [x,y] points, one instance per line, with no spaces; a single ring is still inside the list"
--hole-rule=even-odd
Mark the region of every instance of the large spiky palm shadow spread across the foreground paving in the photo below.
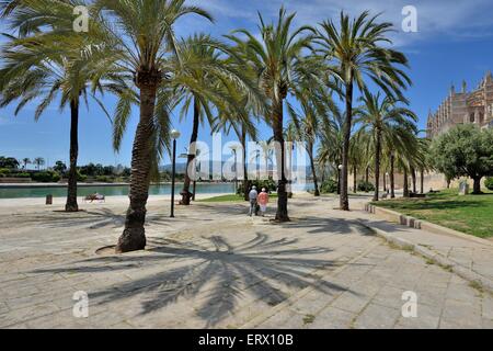
[[[288,288],[291,293],[308,286],[326,294],[348,291],[317,274],[337,267],[320,259],[332,251],[329,248],[297,248],[297,239],[272,239],[260,233],[236,245],[222,236],[202,239],[195,244],[151,238],[151,248],[145,252],[98,257],[35,273],[110,273],[138,268],[141,276],[90,293],[91,303],[104,305],[142,294],[137,315],[142,316],[186,298],[198,304],[195,314],[207,327],[233,314],[248,295],[275,306],[289,297]]]

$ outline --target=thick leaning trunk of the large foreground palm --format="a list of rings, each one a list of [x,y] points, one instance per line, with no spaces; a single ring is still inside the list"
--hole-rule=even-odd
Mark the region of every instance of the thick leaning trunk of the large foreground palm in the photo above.
[[[137,78],[140,83],[140,120],[131,150],[130,206],[128,207],[125,229],[118,239],[116,252],[128,252],[146,248],[146,204],[149,197],[152,136],[151,118],[156,107],[158,79],[151,72]]]

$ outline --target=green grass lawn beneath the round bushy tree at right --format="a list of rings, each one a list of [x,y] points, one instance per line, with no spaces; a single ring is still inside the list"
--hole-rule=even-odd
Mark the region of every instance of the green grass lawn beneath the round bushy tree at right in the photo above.
[[[427,199],[399,199],[374,203],[419,219],[471,234],[493,237],[493,192],[459,196],[457,189],[428,194]]]

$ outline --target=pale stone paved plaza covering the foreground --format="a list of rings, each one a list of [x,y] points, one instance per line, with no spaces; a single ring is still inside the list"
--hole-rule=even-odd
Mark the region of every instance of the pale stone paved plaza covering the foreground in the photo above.
[[[126,201],[77,214],[0,206],[0,327],[493,328],[488,291],[377,237],[367,227],[383,224],[358,210],[365,201],[342,213],[333,197],[297,196],[278,225],[241,203],[196,203],[171,219],[154,197],[148,249],[124,256],[95,251],[116,242]],[[73,317],[78,291],[88,318]],[[402,316],[406,291],[417,317]]]

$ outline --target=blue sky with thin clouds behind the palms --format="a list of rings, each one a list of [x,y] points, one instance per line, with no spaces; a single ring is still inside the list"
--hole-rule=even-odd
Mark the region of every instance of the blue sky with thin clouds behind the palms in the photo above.
[[[196,16],[180,21],[179,35],[194,32],[211,33],[220,37],[233,29],[245,27],[255,32],[257,15],[261,11],[266,19],[275,19],[284,3],[288,11],[297,12],[296,24],[317,23],[335,18],[343,9],[352,14],[364,10],[382,12],[382,20],[395,24],[393,46],[404,52],[411,63],[409,75],[413,87],[408,91],[411,109],[420,116],[420,127],[424,128],[428,109],[436,109],[447,95],[450,84],[461,87],[466,79],[468,87],[475,87],[486,70],[493,70],[493,2],[491,0],[194,0],[216,19],[214,24]],[[417,33],[404,33],[401,30],[402,8],[414,5],[417,10]],[[0,24],[1,25],[1,24]],[[0,27],[2,32],[4,27]],[[115,105],[114,98],[107,95],[104,103],[110,111]],[[56,160],[68,162],[69,111],[58,111],[55,103],[35,123],[35,104],[26,106],[19,116],[13,116],[14,106],[0,110],[0,155],[24,157],[44,157],[53,165]],[[102,111],[90,104],[81,109],[80,117],[80,158],[79,163],[90,161],[107,165],[130,163],[131,141],[138,112],[134,111],[133,122],[125,136],[119,154],[112,149],[112,127]],[[191,120],[177,120],[173,123],[182,132],[179,151],[183,152],[190,139]],[[261,136],[272,134],[265,125],[259,126]],[[199,139],[208,141],[210,131],[200,128]],[[228,140],[230,138],[226,138]],[[168,158],[163,161],[168,163]]]

